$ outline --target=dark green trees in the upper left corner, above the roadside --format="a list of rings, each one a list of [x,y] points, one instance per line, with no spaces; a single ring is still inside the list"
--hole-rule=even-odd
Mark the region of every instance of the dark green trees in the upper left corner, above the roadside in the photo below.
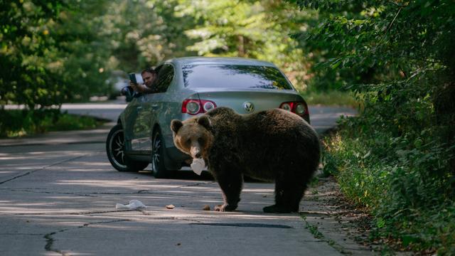
[[[99,22],[75,1],[2,1],[0,102],[30,109],[106,92]],[[90,21],[90,22],[89,22]],[[96,86],[89,86],[96,85]]]

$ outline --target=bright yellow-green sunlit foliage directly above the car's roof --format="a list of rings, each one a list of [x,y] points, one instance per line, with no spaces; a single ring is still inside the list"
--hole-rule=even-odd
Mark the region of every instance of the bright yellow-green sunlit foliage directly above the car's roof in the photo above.
[[[306,14],[284,1],[179,0],[176,16],[193,17],[185,31],[193,44],[186,49],[204,56],[257,58],[275,63],[305,90],[306,61],[289,33]]]

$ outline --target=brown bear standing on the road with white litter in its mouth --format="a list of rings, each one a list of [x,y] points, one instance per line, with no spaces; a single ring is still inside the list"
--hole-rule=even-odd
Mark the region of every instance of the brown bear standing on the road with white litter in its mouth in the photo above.
[[[237,208],[243,175],[275,181],[275,204],[265,213],[299,210],[306,184],[319,166],[320,145],[316,131],[301,117],[273,109],[237,114],[218,107],[183,122],[171,122],[173,142],[193,159],[203,158],[218,181],[223,205],[218,211]]]

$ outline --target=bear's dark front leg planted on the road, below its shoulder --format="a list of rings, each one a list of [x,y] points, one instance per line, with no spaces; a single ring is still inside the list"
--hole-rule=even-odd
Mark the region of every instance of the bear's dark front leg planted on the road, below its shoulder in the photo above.
[[[240,202],[240,193],[242,192],[243,176],[240,171],[218,170],[213,172],[218,184],[220,184],[221,193],[224,203],[215,206],[216,211],[233,211]]]

